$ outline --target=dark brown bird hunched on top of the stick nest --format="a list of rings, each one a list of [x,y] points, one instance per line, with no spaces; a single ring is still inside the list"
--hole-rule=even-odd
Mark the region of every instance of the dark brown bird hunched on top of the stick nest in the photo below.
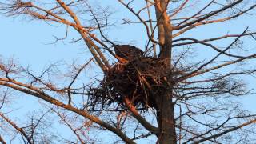
[[[133,61],[143,57],[143,51],[135,46],[130,45],[114,45],[116,58],[122,63]]]

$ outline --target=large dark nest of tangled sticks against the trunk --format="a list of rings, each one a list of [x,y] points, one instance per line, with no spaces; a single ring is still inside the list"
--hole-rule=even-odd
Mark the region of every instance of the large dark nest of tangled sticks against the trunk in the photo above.
[[[106,74],[100,86],[90,90],[91,102],[100,104],[102,109],[118,103],[122,107],[123,98],[142,110],[157,108],[156,99],[170,86],[170,70],[161,58],[138,58],[126,64],[116,63]],[[179,74],[180,72],[173,72]]]

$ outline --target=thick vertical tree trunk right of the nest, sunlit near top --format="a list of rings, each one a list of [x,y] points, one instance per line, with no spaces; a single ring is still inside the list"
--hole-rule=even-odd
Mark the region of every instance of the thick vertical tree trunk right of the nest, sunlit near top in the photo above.
[[[158,19],[158,39],[160,46],[159,58],[166,59],[166,70],[170,73],[166,76],[166,91],[162,91],[156,99],[158,105],[158,143],[160,144],[175,144],[175,120],[174,120],[174,104],[172,102],[173,82],[172,82],[172,66],[171,66],[171,47],[172,47],[172,26],[171,20],[166,13],[167,3],[165,0],[155,0],[156,18]]]

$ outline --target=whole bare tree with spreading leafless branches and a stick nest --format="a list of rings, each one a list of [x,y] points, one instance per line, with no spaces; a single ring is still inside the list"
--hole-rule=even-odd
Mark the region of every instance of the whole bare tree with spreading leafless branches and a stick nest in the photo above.
[[[120,25],[144,28],[139,33],[145,33],[145,49],[118,45],[107,35],[118,23],[112,21],[113,11],[106,2],[0,1],[6,16],[73,28],[80,38],[72,42],[84,42],[91,54],[84,64],[69,66],[68,73],[52,64],[38,75],[11,59],[0,61],[1,111],[10,104],[11,90],[42,100],[44,109],[26,125],[1,112],[2,131],[24,143],[97,142],[86,134],[94,130],[110,131],[116,135],[114,142],[126,143],[254,142],[255,115],[242,110],[234,99],[254,93],[246,89],[243,78],[254,78],[256,70],[255,28],[238,27],[237,34],[202,38],[197,38],[197,31],[255,18],[255,2],[116,0],[110,4],[125,13]],[[65,41],[69,33],[67,29],[65,37],[56,37],[54,43]],[[88,73],[86,79],[83,72],[93,61],[102,75]],[[43,132],[49,126],[45,117],[51,114],[70,128],[74,140]],[[0,133],[2,143],[7,142],[6,134]]]

